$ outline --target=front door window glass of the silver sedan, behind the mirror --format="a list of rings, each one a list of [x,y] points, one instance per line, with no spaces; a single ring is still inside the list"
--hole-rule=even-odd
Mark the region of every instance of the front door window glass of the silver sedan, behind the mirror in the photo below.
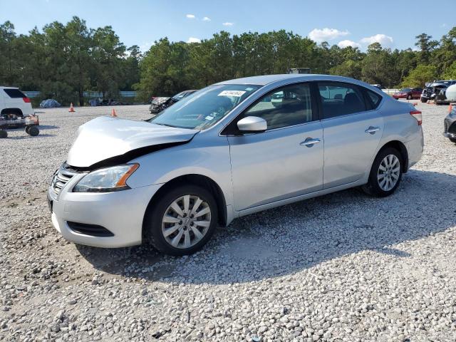
[[[246,116],[263,118],[268,130],[311,121],[309,84],[294,84],[271,91],[244,112],[242,117]]]

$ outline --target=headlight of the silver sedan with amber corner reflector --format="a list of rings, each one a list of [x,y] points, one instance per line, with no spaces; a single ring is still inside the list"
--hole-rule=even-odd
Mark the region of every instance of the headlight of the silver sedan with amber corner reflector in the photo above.
[[[129,164],[95,170],[85,175],[73,187],[73,192],[113,192],[130,189],[126,181],[139,166]]]

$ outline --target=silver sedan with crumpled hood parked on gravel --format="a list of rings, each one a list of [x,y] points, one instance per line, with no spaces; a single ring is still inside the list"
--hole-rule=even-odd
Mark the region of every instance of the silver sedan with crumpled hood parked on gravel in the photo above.
[[[82,125],[48,190],[52,222],[78,244],[191,254],[247,214],[349,187],[391,195],[423,153],[421,123],[351,78],[217,83],[149,122]]]

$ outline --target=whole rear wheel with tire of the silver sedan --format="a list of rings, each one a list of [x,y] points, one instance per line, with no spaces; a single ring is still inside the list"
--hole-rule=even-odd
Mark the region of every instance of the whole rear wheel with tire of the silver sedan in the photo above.
[[[395,148],[385,148],[375,157],[368,184],[363,186],[363,190],[376,197],[389,196],[399,186],[402,172],[400,152]]]

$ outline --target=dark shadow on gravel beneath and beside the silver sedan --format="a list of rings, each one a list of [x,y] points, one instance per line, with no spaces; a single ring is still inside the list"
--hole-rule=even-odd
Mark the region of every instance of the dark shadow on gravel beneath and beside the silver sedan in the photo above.
[[[189,257],[167,257],[147,245],[78,250],[108,274],[188,284],[268,279],[363,251],[407,258],[395,245],[456,226],[455,184],[454,175],[410,170],[390,197],[352,189],[242,217]]]

